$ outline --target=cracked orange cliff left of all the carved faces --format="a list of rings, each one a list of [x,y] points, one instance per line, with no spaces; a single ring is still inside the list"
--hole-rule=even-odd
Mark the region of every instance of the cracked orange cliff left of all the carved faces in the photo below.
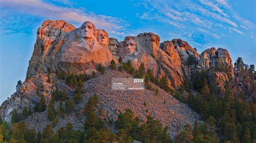
[[[55,53],[63,44],[63,39],[75,27],[63,20],[46,20],[37,30],[37,40],[33,55],[29,61],[26,78],[31,78],[38,73],[38,70],[46,71],[51,65],[49,61],[55,58]]]

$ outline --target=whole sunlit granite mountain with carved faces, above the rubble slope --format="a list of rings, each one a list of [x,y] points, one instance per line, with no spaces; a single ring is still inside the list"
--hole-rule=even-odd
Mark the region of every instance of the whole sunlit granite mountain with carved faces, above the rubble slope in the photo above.
[[[11,111],[26,107],[33,108],[39,101],[37,88],[49,102],[53,90],[59,88],[69,92],[68,85],[59,82],[48,83],[48,69],[65,71],[66,73],[91,74],[97,72],[101,63],[107,67],[110,61],[118,63],[131,61],[138,69],[144,63],[145,69],[151,69],[157,77],[167,75],[169,87],[178,90],[185,80],[193,82],[196,70],[208,71],[208,82],[224,92],[227,82],[234,80],[235,71],[228,51],[223,48],[209,48],[201,54],[186,41],[173,39],[160,42],[160,37],[154,33],[140,33],[136,37],[125,37],[124,41],[109,38],[105,30],[97,29],[91,22],[85,22],[79,28],[63,20],[45,20],[37,31],[37,39],[26,80],[21,88],[10,99],[6,100],[0,109],[0,117],[10,121]],[[227,71],[216,71],[223,65]],[[55,80],[53,75],[50,75]],[[238,90],[242,90],[237,85]],[[240,87],[239,87],[240,86]]]

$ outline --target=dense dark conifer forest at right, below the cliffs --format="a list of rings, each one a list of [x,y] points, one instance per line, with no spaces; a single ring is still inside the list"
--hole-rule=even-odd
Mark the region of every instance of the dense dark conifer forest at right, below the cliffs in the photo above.
[[[223,66],[220,65],[218,68],[221,69]],[[245,76],[249,76],[251,78],[250,83],[254,88],[254,65],[248,68],[241,58],[238,58],[234,68],[244,73]],[[196,96],[189,94],[188,97],[181,94],[178,96],[180,101],[187,103],[205,121],[204,124],[200,125],[201,127],[199,126],[197,134],[194,133],[194,130],[198,130],[198,125],[194,124],[196,129],[193,130],[191,126],[186,125],[185,130],[178,137],[179,141],[256,142],[255,103],[245,102],[245,92],[243,91],[234,94],[231,82],[226,84],[224,96],[217,96],[220,94],[220,90],[215,88],[214,82],[208,83],[207,81],[206,71],[196,71],[193,88],[198,91],[198,94]],[[187,92],[193,89],[188,85],[184,85],[184,87],[186,87],[184,90]],[[252,90],[253,92],[256,91],[255,89]]]

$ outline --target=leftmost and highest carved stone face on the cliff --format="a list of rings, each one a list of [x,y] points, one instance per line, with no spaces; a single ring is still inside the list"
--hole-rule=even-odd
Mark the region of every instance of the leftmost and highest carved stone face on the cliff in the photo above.
[[[95,26],[91,22],[85,22],[81,26],[81,36],[85,39],[95,38]]]

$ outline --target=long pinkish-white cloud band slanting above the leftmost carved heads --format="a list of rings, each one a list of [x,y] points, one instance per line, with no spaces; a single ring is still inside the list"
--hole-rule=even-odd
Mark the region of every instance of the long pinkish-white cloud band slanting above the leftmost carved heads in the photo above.
[[[48,19],[62,19],[71,23],[82,24],[85,21],[91,21],[97,28],[104,28],[111,31],[113,34],[122,34],[129,24],[123,19],[96,15],[93,12],[75,9],[72,7],[60,7],[53,4],[45,3],[43,1],[1,1],[1,7],[9,8],[16,12],[25,13],[27,15],[34,15]],[[12,11],[12,12],[13,12]],[[2,11],[1,11],[2,12]],[[3,15],[1,15],[2,17]]]

